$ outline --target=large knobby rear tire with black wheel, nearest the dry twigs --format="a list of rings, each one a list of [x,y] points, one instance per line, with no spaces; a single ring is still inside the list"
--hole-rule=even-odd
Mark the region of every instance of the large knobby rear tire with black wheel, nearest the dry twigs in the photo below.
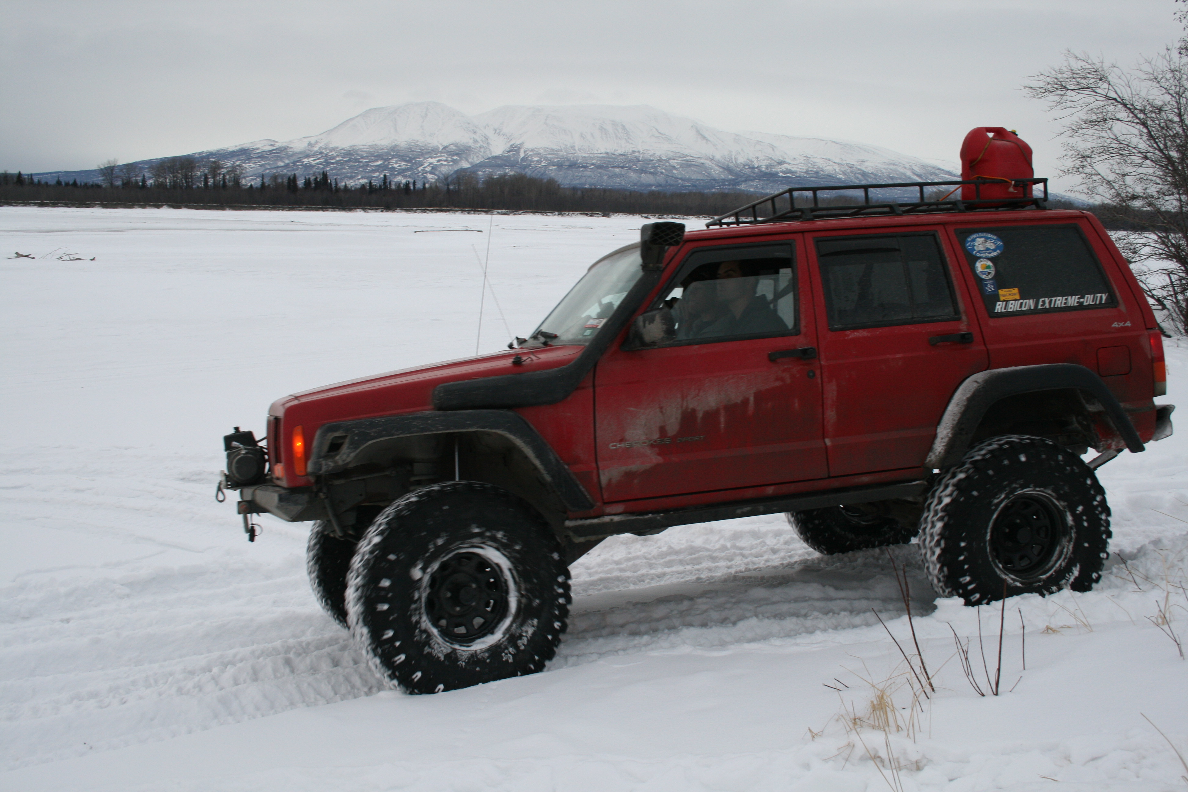
[[[1088,591],[1108,557],[1110,506],[1093,470],[1041,437],[975,446],[936,483],[921,520],[933,587],[978,606]]]

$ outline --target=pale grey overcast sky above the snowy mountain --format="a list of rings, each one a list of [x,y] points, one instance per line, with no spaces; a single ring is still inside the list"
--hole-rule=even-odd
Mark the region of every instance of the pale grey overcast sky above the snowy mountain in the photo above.
[[[1183,6],[1178,6],[1183,8]],[[0,0],[0,169],[94,167],[317,134],[435,100],[652,104],[712,126],[955,160],[1018,129],[1055,176],[1026,75],[1066,49],[1132,63],[1173,0]],[[1062,185],[1067,186],[1067,184]]]

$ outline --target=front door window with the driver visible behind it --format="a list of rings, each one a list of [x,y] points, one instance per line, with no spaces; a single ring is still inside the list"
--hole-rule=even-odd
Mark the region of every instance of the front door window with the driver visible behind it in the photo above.
[[[650,347],[796,335],[792,246],[694,251],[640,319]]]

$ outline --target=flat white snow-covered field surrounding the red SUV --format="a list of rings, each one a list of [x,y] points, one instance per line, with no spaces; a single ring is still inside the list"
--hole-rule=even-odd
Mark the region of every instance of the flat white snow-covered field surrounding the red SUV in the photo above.
[[[221,436],[274,398],[473,354],[488,245],[482,351],[640,222],[0,208],[0,788],[1188,790],[1188,661],[1148,619],[1188,639],[1183,432],[1101,469],[1106,579],[1010,601],[998,697],[949,626],[985,689],[1000,610],[896,549],[936,678],[915,708],[872,613],[911,651],[886,555],[782,518],[608,540],[544,673],[411,697],[318,609],[308,526],[248,544],[215,502]],[[1184,403],[1188,344],[1168,359]],[[903,728],[855,726],[879,711]]]

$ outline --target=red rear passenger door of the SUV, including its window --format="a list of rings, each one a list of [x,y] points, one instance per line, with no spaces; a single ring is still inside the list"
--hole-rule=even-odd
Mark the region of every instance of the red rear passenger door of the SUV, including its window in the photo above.
[[[987,366],[940,228],[810,235],[830,476],[918,468],[949,398]]]

